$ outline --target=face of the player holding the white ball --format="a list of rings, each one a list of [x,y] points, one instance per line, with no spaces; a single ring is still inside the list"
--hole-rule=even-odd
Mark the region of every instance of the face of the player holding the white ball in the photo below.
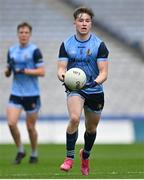
[[[76,18],[74,24],[77,34],[80,37],[87,37],[92,27],[92,19],[88,14],[82,13]]]

